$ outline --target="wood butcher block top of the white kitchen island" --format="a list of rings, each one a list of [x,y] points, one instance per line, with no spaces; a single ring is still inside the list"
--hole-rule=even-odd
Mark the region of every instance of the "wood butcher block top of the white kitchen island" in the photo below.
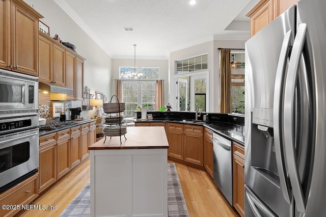
[[[103,149],[157,149],[169,148],[169,143],[165,128],[162,126],[146,126],[146,127],[127,127],[127,133],[120,137],[106,136],[98,142],[94,143],[89,150]]]

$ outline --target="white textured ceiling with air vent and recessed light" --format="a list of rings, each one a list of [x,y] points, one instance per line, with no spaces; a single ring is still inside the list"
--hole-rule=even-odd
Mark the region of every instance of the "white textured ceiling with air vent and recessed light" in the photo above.
[[[168,59],[171,51],[213,38],[249,37],[249,29],[225,29],[235,18],[246,20],[241,13],[257,0],[189,1],[55,0],[114,59],[133,58],[133,44],[137,59]]]

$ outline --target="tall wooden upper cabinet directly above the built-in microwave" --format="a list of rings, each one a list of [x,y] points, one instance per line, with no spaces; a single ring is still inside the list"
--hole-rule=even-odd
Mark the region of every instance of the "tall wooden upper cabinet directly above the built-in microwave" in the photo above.
[[[38,76],[43,16],[21,0],[1,0],[0,14],[0,68]]]

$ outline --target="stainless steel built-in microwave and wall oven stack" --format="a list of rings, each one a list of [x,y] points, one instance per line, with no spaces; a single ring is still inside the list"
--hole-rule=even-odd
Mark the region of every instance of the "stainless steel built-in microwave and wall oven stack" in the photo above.
[[[39,166],[38,78],[0,69],[0,193]]]

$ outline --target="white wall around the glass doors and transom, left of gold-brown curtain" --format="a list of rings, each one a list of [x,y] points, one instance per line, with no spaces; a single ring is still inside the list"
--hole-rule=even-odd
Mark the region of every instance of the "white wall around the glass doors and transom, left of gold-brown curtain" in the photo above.
[[[220,104],[220,50],[218,48],[244,48],[244,43],[246,41],[236,41],[236,40],[212,40],[202,44],[194,45],[170,53],[170,104],[172,107],[177,107],[176,105],[176,85],[174,85],[174,73],[175,73],[175,61],[187,59],[190,57],[200,56],[207,53],[208,65],[207,69],[209,71],[208,77],[208,112],[217,113],[219,112]]]

